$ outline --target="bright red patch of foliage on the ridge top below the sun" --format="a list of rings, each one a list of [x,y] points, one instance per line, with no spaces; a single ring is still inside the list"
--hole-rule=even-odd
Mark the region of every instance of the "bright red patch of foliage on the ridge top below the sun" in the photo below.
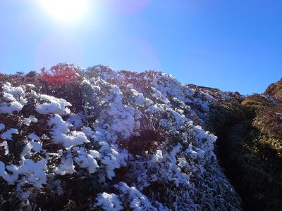
[[[51,67],[49,71],[42,68],[42,79],[52,85],[66,84],[75,78],[77,70],[78,68],[75,65],[59,63]]]

